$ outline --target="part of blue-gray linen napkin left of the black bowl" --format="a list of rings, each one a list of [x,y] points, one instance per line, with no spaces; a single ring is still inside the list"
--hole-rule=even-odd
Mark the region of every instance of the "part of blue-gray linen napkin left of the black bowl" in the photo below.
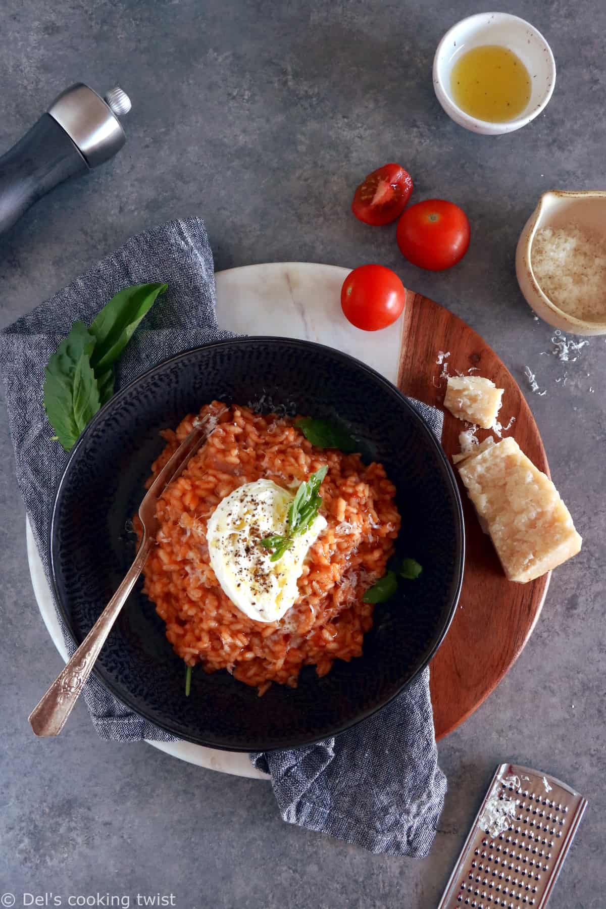
[[[17,482],[47,577],[51,504],[68,455],[51,441],[53,431],[42,402],[45,365],[76,319],[88,325],[123,287],[152,282],[165,282],[168,291],[158,298],[126,346],[116,370],[116,390],[168,356],[234,336],[217,325],[213,252],[204,221],[198,218],[172,221],[132,237],[0,332],[0,369]],[[57,616],[72,655],[75,642],[58,611]],[[176,741],[174,735],[134,714],[94,675],[84,686],[83,696],[94,727],[104,739]]]

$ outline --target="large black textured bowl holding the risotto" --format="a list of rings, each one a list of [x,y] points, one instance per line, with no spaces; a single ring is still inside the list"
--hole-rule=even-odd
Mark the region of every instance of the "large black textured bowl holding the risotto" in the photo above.
[[[70,456],[55,496],[50,564],[55,597],[77,643],[114,594],[134,557],[125,525],[164,442],[159,431],[213,399],[265,412],[338,416],[363,440],[398,490],[398,551],[423,565],[391,602],[377,605],[363,656],[318,678],[303,668],[296,689],[256,689],[226,672],[184,663],[141,592],[125,604],[94,672],[124,704],[190,742],[255,751],[310,744],[373,714],[410,684],[436,652],[462,584],[461,499],[442,448],[400,392],[353,357],[286,338],[243,338],[199,347],[157,365],[95,415]]]

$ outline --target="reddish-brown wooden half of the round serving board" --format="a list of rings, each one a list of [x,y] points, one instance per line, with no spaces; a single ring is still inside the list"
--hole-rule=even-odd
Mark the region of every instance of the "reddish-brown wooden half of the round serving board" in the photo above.
[[[427,297],[407,291],[403,313],[398,387],[406,395],[442,407],[446,379],[436,352],[450,351],[450,375],[470,367],[504,388],[499,420],[524,454],[549,475],[541,435],[529,406],[509,370],[469,325]],[[429,374],[429,375],[428,375]],[[428,381],[429,377],[429,381]],[[460,451],[461,420],[444,412],[442,445],[449,458]],[[479,430],[482,441],[490,431]],[[495,439],[498,441],[498,439]],[[461,600],[451,628],[431,664],[436,738],[442,738],[473,713],[521,654],[541,613],[550,574],[529,584],[513,584],[503,574],[490,538],[482,533],[465,488],[462,494],[467,552]]]

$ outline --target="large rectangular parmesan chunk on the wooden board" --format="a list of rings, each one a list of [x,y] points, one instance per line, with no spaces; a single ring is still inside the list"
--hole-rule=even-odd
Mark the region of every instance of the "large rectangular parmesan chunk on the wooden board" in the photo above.
[[[581,550],[560,494],[515,439],[473,452],[459,474],[510,581],[532,581]]]

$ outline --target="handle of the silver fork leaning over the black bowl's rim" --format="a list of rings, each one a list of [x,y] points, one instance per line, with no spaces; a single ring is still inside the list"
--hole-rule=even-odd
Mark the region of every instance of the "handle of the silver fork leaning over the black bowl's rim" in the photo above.
[[[93,670],[94,661],[101,653],[107,635],[112,630],[128,594],[143,570],[153,544],[154,540],[145,534],[143,542],[134,556],[134,562],[124,576],[124,581],[105,606],[104,611],[74,656],[69,663],[65,664],[65,668],[56,677],[55,682],[29,714],[29,722],[36,735],[58,735],[63,729],[67,717],[72,713],[74,704],[80,697],[84,684]]]

